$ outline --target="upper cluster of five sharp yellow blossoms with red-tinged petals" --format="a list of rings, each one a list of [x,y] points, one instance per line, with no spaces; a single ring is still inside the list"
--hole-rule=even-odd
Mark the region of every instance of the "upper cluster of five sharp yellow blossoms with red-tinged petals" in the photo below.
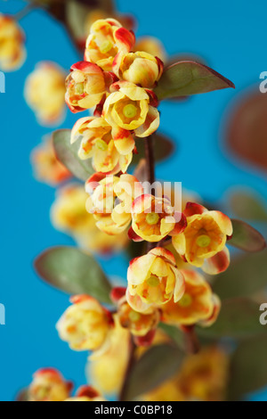
[[[95,21],[86,41],[85,61],[71,67],[66,102],[72,112],[94,109],[79,119],[71,142],[81,138],[79,157],[92,158],[96,171],[125,173],[135,149],[135,137],[150,136],[159,125],[153,93],[163,62],[134,52],[135,37],[114,19]]]

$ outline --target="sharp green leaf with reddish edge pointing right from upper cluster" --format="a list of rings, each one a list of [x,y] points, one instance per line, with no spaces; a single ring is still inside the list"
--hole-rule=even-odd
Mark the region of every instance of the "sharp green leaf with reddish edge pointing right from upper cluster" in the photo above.
[[[199,62],[182,61],[166,68],[154,91],[158,95],[158,99],[162,100],[207,93],[227,87],[234,88],[235,86],[228,78],[224,78],[206,65]]]

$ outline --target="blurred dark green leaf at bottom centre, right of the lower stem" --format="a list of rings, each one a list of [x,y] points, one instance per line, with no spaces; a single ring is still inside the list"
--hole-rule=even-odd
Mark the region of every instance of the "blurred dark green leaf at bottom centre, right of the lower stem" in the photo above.
[[[182,352],[170,345],[148,349],[132,369],[125,400],[133,400],[168,380],[181,366],[182,358]]]

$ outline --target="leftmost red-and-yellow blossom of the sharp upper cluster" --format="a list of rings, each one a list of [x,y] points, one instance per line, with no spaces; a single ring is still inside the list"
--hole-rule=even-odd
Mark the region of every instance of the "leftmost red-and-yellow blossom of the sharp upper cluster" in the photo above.
[[[66,103],[70,111],[80,112],[101,102],[114,78],[92,62],[77,62],[66,79]]]

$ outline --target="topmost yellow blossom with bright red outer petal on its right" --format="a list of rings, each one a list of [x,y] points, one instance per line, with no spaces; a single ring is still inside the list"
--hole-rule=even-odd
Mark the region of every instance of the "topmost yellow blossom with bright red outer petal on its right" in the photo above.
[[[102,70],[111,71],[117,53],[129,53],[134,42],[134,33],[115,19],[95,21],[86,41],[85,60],[98,64]]]

